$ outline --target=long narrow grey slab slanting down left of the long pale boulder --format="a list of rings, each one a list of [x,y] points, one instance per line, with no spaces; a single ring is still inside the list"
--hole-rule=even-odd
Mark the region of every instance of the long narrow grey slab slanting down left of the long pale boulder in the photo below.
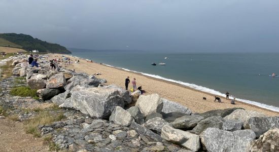
[[[131,129],[134,129],[136,132],[138,132],[139,134],[143,134],[145,136],[149,136],[150,138],[152,138],[153,140],[156,140],[156,141],[162,141],[162,138],[152,132],[151,130],[147,129],[146,127],[143,127],[139,124],[137,124],[136,122],[132,121],[131,125],[130,125],[130,128]]]

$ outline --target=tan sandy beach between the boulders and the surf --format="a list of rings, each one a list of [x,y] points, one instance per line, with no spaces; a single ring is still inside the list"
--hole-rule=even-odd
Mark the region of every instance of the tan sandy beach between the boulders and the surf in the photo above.
[[[62,58],[61,54],[48,54],[49,59]],[[69,55],[64,55],[69,57],[72,61],[80,60],[80,64],[73,63],[71,65],[66,65],[68,69],[75,69],[77,72],[85,72],[88,74],[101,73],[101,75],[96,75],[97,78],[106,79],[108,81],[107,85],[115,84],[125,88],[125,79],[127,76],[130,77],[130,81],[133,78],[136,79],[136,85],[142,86],[146,94],[158,93],[161,97],[166,98],[171,101],[180,103],[193,112],[205,112],[214,109],[225,109],[233,107],[241,107],[247,110],[255,110],[265,113],[269,116],[278,116],[279,112],[264,109],[255,105],[243,103],[236,101],[236,104],[230,104],[230,100],[221,98],[223,103],[214,102],[213,94],[197,91],[189,87],[185,87],[176,83],[167,82],[164,80],[159,80],[140,73],[134,73],[125,71],[122,69],[109,67],[100,63],[87,62],[85,59],[74,58]],[[65,62],[60,62],[63,67],[65,67]],[[129,84],[129,89],[131,88],[131,83]],[[203,100],[202,97],[206,97],[207,100]]]

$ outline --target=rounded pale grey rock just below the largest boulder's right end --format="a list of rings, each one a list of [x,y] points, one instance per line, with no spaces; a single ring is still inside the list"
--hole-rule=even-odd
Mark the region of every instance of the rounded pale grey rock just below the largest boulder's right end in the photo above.
[[[110,117],[110,122],[123,126],[130,126],[133,118],[130,113],[120,106],[116,106]]]

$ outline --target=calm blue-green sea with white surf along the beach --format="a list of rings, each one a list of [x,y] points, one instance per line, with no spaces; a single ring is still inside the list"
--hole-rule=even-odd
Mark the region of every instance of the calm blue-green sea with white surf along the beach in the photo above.
[[[73,56],[279,111],[279,53],[151,53],[69,49]],[[167,59],[164,59],[167,57]],[[156,66],[151,63],[157,63]],[[166,63],[165,66],[158,65]],[[125,79],[125,78],[123,78]]]

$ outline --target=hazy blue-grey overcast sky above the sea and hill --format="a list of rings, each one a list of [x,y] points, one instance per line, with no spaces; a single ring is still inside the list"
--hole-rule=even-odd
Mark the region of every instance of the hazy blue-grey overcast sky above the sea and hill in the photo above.
[[[279,52],[279,1],[0,0],[0,33],[68,48]]]

